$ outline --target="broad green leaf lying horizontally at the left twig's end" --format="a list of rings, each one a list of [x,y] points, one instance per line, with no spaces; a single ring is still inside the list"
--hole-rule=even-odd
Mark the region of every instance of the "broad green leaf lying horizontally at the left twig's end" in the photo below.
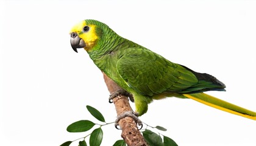
[[[94,125],[95,123],[91,122],[90,120],[79,120],[71,123],[66,130],[69,132],[84,132],[93,128]]]

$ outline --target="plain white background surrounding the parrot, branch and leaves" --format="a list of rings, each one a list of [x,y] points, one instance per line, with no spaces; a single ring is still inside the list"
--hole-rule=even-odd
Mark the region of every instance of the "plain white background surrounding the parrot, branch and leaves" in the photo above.
[[[208,94],[256,111],[256,1],[0,5],[0,145],[55,146],[83,137],[88,133],[68,133],[66,127],[81,119],[97,122],[86,105],[99,109],[107,122],[115,120],[101,72],[85,50],[77,54],[69,43],[69,30],[82,19],[102,21],[168,60],[214,75],[227,91]],[[161,133],[182,146],[256,145],[256,121],[189,99],[155,101],[140,119],[167,128]],[[121,139],[113,125],[102,128],[102,145]]]

